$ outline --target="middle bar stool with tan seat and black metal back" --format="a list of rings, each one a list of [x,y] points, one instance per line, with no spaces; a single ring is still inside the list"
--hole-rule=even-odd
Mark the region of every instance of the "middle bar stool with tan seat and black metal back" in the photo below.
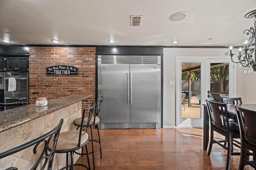
[[[90,107],[84,108],[82,117],[80,119],[80,128],[79,130],[71,130],[60,133],[59,140],[56,145],[56,153],[66,153],[66,166],[61,168],[63,170],[65,168],[70,167],[71,170],[74,170],[74,166],[83,166],[87,170],[90,170],[90,160],[89,156],[87,156],[88,166],[84,164],[74,164],[74,152],[85,146],[86,153],[88,155],[88,147],[87,143],[89,141],[89,136],[87,134],[90,120],[92,118],[92,112],[94,111],[96,104],[92,102]],[[85,113],[89,111],[88,116],[86,117]],[[52,143],[49,144],[49,147],[52,146]],[[71,163],[68,164],[68,153],[70,152]]]

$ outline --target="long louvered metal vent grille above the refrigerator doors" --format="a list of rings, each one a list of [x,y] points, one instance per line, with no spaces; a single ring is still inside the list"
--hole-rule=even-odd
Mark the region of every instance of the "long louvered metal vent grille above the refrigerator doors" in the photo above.
[[[157,64],[157,56],[102,56],[102,64]]]

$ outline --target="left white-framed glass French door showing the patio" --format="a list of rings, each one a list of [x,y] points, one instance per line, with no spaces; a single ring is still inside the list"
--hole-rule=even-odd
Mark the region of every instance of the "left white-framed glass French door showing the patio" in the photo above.
[[[178,127],[203,126],[200,104],[203,99],[200,98],[200,92],[204,90],[202,86],[204,65],[204,57],[178,57],[176,60],[176,122]],[[183,99],[184,93],[186,97]]]

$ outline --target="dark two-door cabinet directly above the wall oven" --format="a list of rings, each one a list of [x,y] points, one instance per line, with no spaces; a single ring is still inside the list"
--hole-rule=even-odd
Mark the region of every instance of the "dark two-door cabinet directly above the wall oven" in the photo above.
[[[6,57],[6,72],[28,72],[28,57]]]

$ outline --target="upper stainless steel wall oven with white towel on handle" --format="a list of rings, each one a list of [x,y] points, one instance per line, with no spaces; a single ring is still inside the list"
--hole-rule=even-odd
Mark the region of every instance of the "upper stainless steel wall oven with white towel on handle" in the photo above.
[[[12,84],[9,82],[12,81]],[[28,72],[4,73],[4,96],[27,97],[28,96]]]

